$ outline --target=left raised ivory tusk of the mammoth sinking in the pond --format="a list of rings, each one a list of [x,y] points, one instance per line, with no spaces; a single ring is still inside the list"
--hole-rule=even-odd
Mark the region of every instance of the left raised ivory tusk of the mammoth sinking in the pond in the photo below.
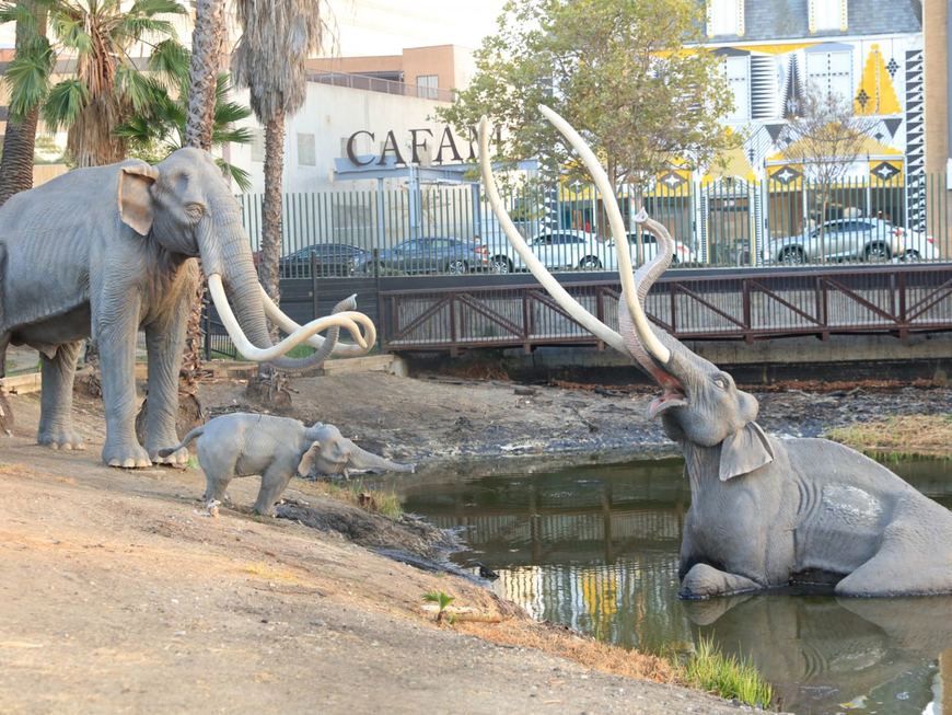
[[[492,177],[492,168],[489,164],[488,124],[486,117],[479,119],[479,164],[483,169],[483,183],[486,185],[486,195],[489,198],[489,205],[492,207],[492,212],[496,215],[499,224],[502,227],[506,238],[509,239],[509,243],[512,244],[513,249],[515,249],[519,257],[522,258],[523,263],[525,263],[536,280],[543,285],[555,301],[561,305],[573,320],[595,335],[595,337],[601,338],[619,353],[627,354],[628,350],[625,348],[625,341],[622,336],[582,308],[582,305],[561,287],[559,281],[556,280],[542,262],[535,257],[525,244],[525,240],[520,235],[512,219],[509,218],[509,214],[507,214],[506,209],[502,208],[502,200],[499,198],[499,189],[496,187],[496,180]]]

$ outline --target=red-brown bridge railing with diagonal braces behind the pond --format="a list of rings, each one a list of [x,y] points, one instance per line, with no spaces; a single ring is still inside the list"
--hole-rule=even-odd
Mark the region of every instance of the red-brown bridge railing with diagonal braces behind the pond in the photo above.
[[[454,277],[452,284],[381,285],[382,347],[392,351],[597,345],[527,276]],[[529,278],[526,280],[525,278]],[[580,276],[580,278],[590,278]],[[513,284],[512,280],[519,280]],[[567,280],[566,289],[617,330],[616,278]],[[682,270],[662,276],[649,318],[688,339],[952,331],[952,264]]]

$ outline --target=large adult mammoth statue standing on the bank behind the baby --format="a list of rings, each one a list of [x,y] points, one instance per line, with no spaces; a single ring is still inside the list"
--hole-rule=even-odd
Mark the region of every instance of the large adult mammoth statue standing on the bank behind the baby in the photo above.
[[[72,383],[82,339],[92,335],[105,402],[103,460],[133,468],[188,459],[184,449],[159,451],[178,442],[178,368],[198,285],[194,256],[201,257],[235,347],[249,360],[303,369],[330,353],[367,353],[376,339],[362,313],[341,311],[302,327],[268,299],[239,205],[207,152],[179,149],[155,166],[125,161],[79,169],[0,208],[0,355],[11,343],[39,350],[40,443],[83,447],[71,426]],[[266,315],[290,333],[277,345]],[[133,429],[140,327],[149,359],[144,448]],[[339,327],[356,344],[337,343]],[[326,338],[317,335],[323,331],[330,331]],[[313,355],[283,357],[303,342],[316,348]]]

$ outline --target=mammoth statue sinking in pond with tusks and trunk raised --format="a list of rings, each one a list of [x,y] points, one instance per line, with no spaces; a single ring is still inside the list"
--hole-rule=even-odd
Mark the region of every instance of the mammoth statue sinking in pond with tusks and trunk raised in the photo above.
[[[582,138],[545,116],[578,151],[608,215],[622,297],[613,331],[579,304],[532,254],[499,199],[480,123],[483,180],[507,238],[572,318],[628,355],[662,389],[650,406],[684,452],[692,507],[681,547],[681,595],[708,598],[787,586],[835,584],[843,596],[952,592],[952,511],[858,452],[825,439],[778,439],[755,422],[757,401],[730,374],[648,321],[652,282],[671,263],[665,228],[655,257],[632,275],[622,212],[605,171]]]

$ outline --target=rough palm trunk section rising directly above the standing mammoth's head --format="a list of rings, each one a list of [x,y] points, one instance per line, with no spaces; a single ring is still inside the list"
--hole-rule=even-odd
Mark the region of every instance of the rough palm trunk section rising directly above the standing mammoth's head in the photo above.
[[[198,0],[188,70],[185,145],[211,149],[214,90],[224,49],[224,0]]]

